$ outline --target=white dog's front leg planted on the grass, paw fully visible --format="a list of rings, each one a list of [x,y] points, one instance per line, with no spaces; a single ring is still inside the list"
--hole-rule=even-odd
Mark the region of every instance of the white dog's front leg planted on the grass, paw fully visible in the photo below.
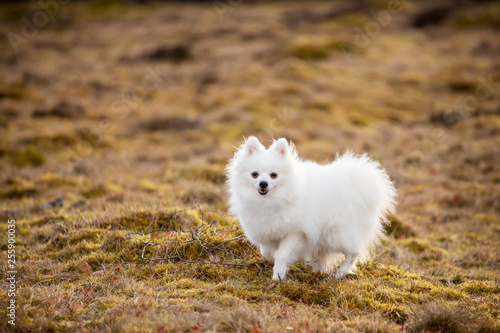
[[[289,234],[280,242],[274,261],[273,280],[286,279],[288,266],[300,259],[306,242],[303,233]]]

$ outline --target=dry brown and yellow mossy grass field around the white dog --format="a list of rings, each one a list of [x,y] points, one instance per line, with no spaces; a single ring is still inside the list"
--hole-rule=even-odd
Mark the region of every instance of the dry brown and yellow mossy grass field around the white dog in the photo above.
[[[498,2],[50,3],[0,6],[1,331],[500,332]],[[388,170],[355,277],[271,280],[227,214],[251,135]]]

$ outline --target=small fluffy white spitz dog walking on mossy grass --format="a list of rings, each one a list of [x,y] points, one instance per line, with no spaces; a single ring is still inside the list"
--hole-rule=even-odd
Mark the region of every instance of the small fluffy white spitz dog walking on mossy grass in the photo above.
[[[248,240],[274,261],[273,279],[286,278],[300,259],[332,273],[340,254],[345,260],[336,278],[352,274],[383,237],[385,216],[395,206],[396,190],[378,162],[347,152],[319,165],[299,159],[283,138],[267,150],[249,138],[227,175],[230,212]]]

